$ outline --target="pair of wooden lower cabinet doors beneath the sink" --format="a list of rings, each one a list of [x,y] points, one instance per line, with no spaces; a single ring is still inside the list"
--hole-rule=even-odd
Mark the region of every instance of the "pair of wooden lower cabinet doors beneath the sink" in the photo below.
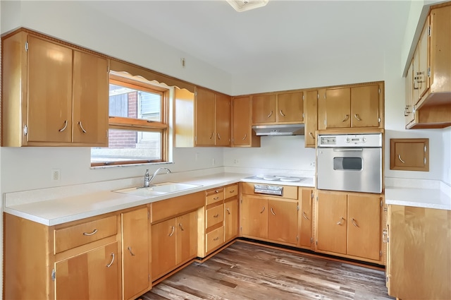
[[[197,211],[152,224],[152,281],[197,256]]]

